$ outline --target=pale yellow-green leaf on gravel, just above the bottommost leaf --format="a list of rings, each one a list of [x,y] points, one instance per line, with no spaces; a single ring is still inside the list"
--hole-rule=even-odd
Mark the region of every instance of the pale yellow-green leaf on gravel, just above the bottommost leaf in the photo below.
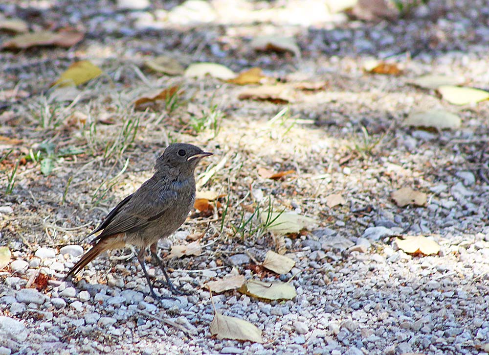
[[[295,287],[292,284],[281,281],[262,282],[248,280],[238,291],[248,296],[265,298],[267,300],[291,300],[297,296]]]

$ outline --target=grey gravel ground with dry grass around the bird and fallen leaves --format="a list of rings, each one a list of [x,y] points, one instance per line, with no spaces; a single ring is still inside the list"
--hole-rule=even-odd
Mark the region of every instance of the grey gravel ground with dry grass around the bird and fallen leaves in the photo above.
[[[467,86],[488,89],[486,1],[432,0],[379,23],[319,10],[301,17],[306,5],[292,0],[237,1],[240,11],[231,11],[226,1],[194,2],[200,6],[195,11],[178,1],[155,1],[148,10],[123,9],[122,2],[58,1],[41,10],[0,5],[5,16],[38,21],[33,29],[86,32],[71,49],[0,52],[0,86],[28,93],[1,102],[0,136],[22,140],[0,163],[2,189],[15,162],[40,143],[54,143],[57,152],[86,149],[58,156],[49,176],[35,162],[23,163],[12,193],[2,190],[0,244],[9,247],[12,261],[0,272],[0,355],[485,354],[489,102],[453,106],[408,83],[425,73],[455,74]],[[301,58],[249,48],[255,35],[273,32],[294,36]],[[0,34],[1,42],[10,37]],[[241,87],[137,69],[146,56],[159,54],[182,65],[219,62],[235,71],[259,66],[284,82],[324,81],[326,90],[296,94],[290,117],[272,125],[283,105],[239,100]],[[403,74],[365,73],[370,57],[396,62]],[[93,60],[111,80],[89,83],[75,104],[46,103],[46,87],[74,59]],[[161,121],[158,113],[128,108],[142,92],[174,84],[182,85],[187,102],[176,114]],[[219,131],[192,131],[189,112],[214,104],[225,116]],[[438,133],[401,125],[414,109],[432,107],[457,113],[462,127]],[[42,123],[43,109],[53,121]],[[87,138],[87,125],[72,123],[80,115],[97,122],[98,141]],[[127,117],[139,118],[134,143],[104,156]],[[369,133],[365,140],[360,126]],[[204,235],[200,256],[169,260],[175,284],[192,295],[161,301],[148,296],[128,250],[90,263],[76,284],[60,282],[87,249],[83,236],[151,175],[166,140],[213,151],[199,173],[226,158],[202,188],[229,196],[224,225],[228,197],[210,215],[195,211],[172,240],[160,242],[168,251],[189,235]],[[11,147],[0,141],[0,148]],[[127,170],[118,174],[126,159]],[[274,181],[261,177],[257,167],[296,172]],[[390,194],[406,186],[425,192],[426,205],[398,207]],[[346,203],[328,207],[332,193]],[[253,258],[262,261],[275,247],[269,233],[233,233],[241,213],[248,218],[260,196],[318,221],[317,228],[285,237],[296,265],[280,277],[254,268]],[[431,236],[441,250],[435,256],[406,254],[394,242],[400,235]],[[212,296],[222,314],[260,328],[263,344],[219,340],[209,332],[214,310],[204,284],[233,267],[247,279],[294,276],[297,297],[288,301],[266,302],[237,291]],[[158,269],[150,274],[162,277]]]

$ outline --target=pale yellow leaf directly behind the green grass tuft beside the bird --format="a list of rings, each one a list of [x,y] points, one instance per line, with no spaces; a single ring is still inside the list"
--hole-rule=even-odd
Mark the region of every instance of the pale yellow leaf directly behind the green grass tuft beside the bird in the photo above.
[[[306,217],[295,212],[260,213],[260,219],[267,225],[267,230],[275,233],[298,233],[304,228],[312,228],[317,222],[311,217]]]

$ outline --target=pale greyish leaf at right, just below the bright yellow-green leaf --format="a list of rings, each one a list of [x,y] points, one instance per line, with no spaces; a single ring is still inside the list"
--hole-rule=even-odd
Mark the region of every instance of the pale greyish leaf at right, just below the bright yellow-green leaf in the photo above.
[[[413,112],[402,122],[403,126],[435,128],[438,131],[443,129],[456,129],[461,125],[460,118],[445,110],[428,110]]]

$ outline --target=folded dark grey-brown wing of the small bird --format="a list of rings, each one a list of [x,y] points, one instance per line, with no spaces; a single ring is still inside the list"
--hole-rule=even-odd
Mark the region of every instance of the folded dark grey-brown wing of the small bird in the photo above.
[[[137,232],[146,227],[152,220],[159,218],[177,203],[178,195],[176,191],[158,191],[158,193],[155,193],[157,196],[138,192],[140,191],[136,191],[126,203],[123,204],[122,202],[124,201],[120,202],[119,205],[121,206],[117,211],[115,210],[119,205],[111,211],[111,213],[115,211],[111,220],[105,225],[102,233],[95,237],[92,243],[101,238],[119,233]]]

